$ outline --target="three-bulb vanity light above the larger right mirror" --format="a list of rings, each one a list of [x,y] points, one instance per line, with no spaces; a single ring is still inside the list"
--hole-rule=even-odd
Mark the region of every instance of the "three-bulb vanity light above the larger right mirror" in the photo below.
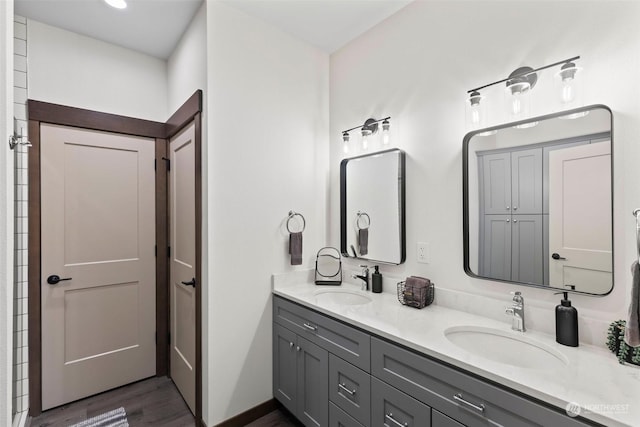
[[[483,97],[480,95],[480,91],[500,83],[506,84],[506,103],[509,117],[512,120],[522,120],[528,117],[531,91],[538,82],[538,72],[558,65],[562,66],[558,74],[562,82],[561,99],[563,104],[569,105],[575,100],[576,95],[575,75],[579,68],[576,67],[574,61],[578,59],[580,59],[579,56],[574,56],[573,58],[554,62],[553,64],[535,69],[531,67],[520,67],[509,74],[507,78],[468,90],[470,108],[467,120],[469,126],[473,129],[484,127],[482,123],[484,121],[484,115],[481,111],[481,101]],[[525,128],[537,124],[537,122],[530,122],[516,127]]]

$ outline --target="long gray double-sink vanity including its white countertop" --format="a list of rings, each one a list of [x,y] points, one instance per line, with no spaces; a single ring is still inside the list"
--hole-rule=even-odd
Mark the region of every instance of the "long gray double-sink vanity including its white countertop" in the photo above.
[[[281,286],[274,278],[274,294],[274,397],[305,425],[614,426],[640,420],[639,373],[596,347],[560,348],[543,334],[522,335],[437,305],[404,307],[393,293],[374,295],[348,284],[326,291]],[[559,359],[536,366],[532,357],[522,362],[531,365],[519,366],[478,356],[447,338],[467,330],[460,325],[506,338],[520,334]],[[582,409],[571,417],[569,402],[623,410]]]

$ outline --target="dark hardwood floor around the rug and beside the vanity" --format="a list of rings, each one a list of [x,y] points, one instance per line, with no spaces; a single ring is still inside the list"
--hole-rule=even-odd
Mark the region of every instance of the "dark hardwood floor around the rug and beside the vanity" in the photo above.
[[[187,404],[167,377],[153,377],[43,412],[26,427],[68,427],[123,407],[131,427],[191,427]],[[285,409],[275,410],[246,427],[301,427]]]

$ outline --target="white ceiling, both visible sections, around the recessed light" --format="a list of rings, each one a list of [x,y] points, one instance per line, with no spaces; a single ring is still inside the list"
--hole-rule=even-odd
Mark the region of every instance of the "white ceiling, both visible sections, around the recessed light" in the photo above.
[[[1,1],[1,0],[0,0]],[[14,0],[15,13],[167,59],[203,0]],[[412,0],[218,0],[332,53]]]

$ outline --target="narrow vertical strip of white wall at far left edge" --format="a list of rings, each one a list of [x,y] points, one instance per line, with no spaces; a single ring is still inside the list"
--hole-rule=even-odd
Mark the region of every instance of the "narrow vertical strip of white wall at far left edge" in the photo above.
[[[11,425],[13,341],[13,2],[0,2],[0,425]]]

